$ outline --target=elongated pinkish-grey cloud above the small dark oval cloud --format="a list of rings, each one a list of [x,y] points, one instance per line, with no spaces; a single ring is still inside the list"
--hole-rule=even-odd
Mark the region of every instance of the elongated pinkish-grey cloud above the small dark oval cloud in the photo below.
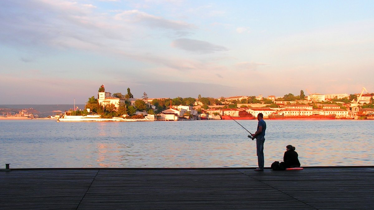
[[[166,28],[170,30],[189,30],[196,28],[192,24],[188,24],[183,21],[173,21],[161,18],[159,16],[150,15],[139,10],[126,10],[121,13],[118,13],[114,16],[114,19],[118,21],[127,21],[127,22],[140,22],[144,25],[148,25],[152,28]]]

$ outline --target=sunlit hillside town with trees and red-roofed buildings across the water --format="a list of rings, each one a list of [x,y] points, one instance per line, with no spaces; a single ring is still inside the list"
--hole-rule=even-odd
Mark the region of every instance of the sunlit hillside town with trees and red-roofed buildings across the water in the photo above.
[[[366,91],[366,93],[364,93]],[[99,88],[98,97],[92,96],[84,110],[65,111],[61,121],[141,121],[141,120],[230,120],[256,119],[263,113],[265,119],[373,119],[374,93],[365,88],[361,93],[348,95],[310,93],[299,96],[289,93],[273,95],[233,96],[228,98],[134,98],[128,93],[106,92]],[[64,120],[65,119],[65,120]],[[74,120],[75,119],[75,120]]]

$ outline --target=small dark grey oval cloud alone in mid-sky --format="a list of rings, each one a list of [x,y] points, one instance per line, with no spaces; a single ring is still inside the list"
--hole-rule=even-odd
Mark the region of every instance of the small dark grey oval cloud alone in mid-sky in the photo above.
[[[179,48],[179,49],[183,49],[186,51],[198,52],[198,53],[214,53],[214,52],[229,50],[224,46],[211,44],[207,41],[200,41],[200,40],[194,40],[194,39],[188,39],[188,38],[180,38],[180,39],[174,40],[171,43],[171,46]]]

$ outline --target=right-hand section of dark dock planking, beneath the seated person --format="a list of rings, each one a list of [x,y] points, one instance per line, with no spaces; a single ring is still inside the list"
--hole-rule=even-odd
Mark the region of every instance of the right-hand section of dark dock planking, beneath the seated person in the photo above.
[[[241,172],[316,209],[371,209],[374,203],[372,167]]]

